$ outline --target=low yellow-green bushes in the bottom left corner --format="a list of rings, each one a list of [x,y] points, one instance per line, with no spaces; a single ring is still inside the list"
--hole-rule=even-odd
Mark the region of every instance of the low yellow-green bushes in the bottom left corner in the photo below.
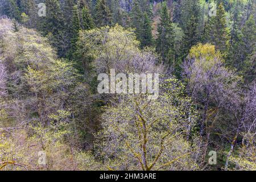
[[[46,170],[72,169],[71,152],[65,144],[64,136],[68,137],[69,125],[67,118],[70,113],[65,110],[51,114],[50,126],[41,123],[31,123],[30,135],[23,129],[14,130],[13,136],[0,129],[0,167],[1,163],[8,162],[3,170]],[[46,165],[38,164],[38,152],[46,152]]]

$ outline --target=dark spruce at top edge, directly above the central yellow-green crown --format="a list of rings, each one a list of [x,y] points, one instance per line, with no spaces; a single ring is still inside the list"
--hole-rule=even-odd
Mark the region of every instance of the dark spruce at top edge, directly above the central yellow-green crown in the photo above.
[[[112,24],[112,14],[110,13],[106,0],[97,0],[95,11],[96,23],[98,27]]]

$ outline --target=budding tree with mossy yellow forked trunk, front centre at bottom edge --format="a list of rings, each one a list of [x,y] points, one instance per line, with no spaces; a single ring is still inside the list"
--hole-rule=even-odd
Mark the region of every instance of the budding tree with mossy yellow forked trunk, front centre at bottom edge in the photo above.
[[[192,156],[199,151],[186,139],[197,120],[191,99],[175,78],[162,86],[166,91],[158,100],[130,95],[106,107],[96,142],[106,169],[197,169]]]

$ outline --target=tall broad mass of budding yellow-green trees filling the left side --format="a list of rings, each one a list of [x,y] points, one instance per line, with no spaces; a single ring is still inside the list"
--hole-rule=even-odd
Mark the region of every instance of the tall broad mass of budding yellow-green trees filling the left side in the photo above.
[[[0,59],[8,78],[8,93],[0,98],[0,167],[73,169],[67,146],[72,106],[66,100],[80,75],[73,63],[57,59],[46,38],[22,26],[13,30],[9,19],[0,19]],[[38,164],[42,150],[46,166]]]

